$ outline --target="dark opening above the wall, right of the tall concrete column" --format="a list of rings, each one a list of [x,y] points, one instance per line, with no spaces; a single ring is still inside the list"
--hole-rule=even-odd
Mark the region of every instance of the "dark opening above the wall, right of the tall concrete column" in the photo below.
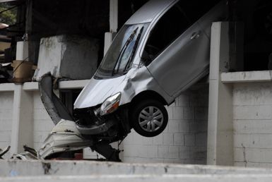
[[[244,71],[268,70],[272,53],[272,1],[235,1],[233,20],[244,23]]]

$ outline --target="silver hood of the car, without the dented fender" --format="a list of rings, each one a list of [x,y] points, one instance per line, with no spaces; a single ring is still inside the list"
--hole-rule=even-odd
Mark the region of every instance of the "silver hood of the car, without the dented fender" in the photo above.
[[[95,78],[90,79],[88,85],[86,85],[81,94],[78,95],[74,103],[74,108],[81,109],[102,104],[102,102],[104,102],[107,97],[110,97],[114,90],[121,85],[125,78],[126,75],[102,80]]]

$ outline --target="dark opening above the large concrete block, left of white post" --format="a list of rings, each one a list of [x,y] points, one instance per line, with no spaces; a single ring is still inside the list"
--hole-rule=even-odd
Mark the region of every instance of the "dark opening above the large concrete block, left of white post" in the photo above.
[[[71,1],[35,0],[28,17],[32,18],[27,28],[29,36],[85,35],[102,37],[109,30],[109,0]]]

